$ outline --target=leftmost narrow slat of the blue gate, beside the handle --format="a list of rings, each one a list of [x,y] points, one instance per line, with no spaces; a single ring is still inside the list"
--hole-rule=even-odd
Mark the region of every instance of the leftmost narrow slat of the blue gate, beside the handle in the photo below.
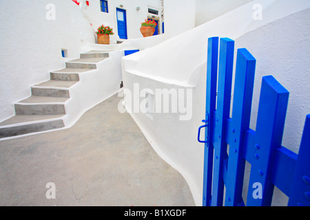
[[[211,186],[213,173],[213,145],[210,133],[214,127],[214,111],[216,109],[216,81],[218,74],[218,37],[208,39],[207,54],[207,91],[205,119],[208,120],[209,129],[205,129],[205,161],[203,168],[203,206],[209,206],[211,202]]]

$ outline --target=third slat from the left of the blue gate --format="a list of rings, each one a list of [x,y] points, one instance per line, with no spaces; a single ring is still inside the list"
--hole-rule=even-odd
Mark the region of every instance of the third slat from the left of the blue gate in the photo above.
[[[245,172],[243,143],[245,131],[249,129],[251,101],[254,88],[256,59],[246,50],[237,53],[236,76],[234,85],[234,103],[230,125],[229,159],[225,183],[225,206],[238,206],[242,203],[242,186]]]

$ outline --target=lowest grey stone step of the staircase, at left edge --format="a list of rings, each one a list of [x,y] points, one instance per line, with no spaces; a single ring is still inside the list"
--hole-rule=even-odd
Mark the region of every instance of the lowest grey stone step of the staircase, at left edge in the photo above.
[[[0,138],[61,129],[63,115],[15,115],[0,123]]]

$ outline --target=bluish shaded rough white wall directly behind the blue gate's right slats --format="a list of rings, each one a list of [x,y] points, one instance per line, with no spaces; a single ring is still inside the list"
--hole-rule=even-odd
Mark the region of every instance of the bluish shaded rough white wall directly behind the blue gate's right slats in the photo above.
[[[257,60],[250,128],[256,129],[262,76],[272,75],[289,91],[282,146],[295,153],[298,153],[306,115],[310,113],[309,19],[310,8],[307,8],[236,39],[236,47],[246,47]],[[276,189],[273,205],[287,206],[287,201]]]

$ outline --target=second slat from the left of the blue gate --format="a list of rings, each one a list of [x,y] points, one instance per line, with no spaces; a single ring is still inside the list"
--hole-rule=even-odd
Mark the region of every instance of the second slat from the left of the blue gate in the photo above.
[[[231,100],[231,79],[234,64],[234,41],[220,39],[218,66],[218,99],[216,122],[214,122],[214,175],[211,206],[223,206],[223,160],[227,159],[227,143],[225,142],[225,125],[229,118]]]

